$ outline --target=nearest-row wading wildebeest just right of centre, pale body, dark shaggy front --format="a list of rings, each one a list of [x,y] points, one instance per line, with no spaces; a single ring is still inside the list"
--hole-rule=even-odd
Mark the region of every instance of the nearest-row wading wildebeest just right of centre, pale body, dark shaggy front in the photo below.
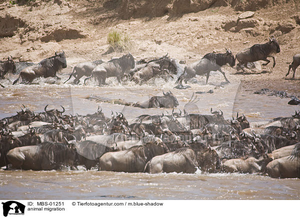
[[[220,159],[211,148],[180,148],[173,152],[154,156],[145,165],[144,172],[193,173],[200,168],[204,172],[215,172],[220,168]]]

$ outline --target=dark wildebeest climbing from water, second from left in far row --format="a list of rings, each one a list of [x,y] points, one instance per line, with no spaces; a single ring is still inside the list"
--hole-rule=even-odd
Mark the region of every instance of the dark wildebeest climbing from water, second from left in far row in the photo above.
[[[59,72],[62,68],[66,68],[66,60],[64,56],[64,51],[57,53],[54,56],[48,57],[41,60],[39,63],[32,66],[28,66],[20,72],[16,80],[12,84],[15,84],[21,77],[24,80],[32,81],[37,77],[56,77],[60,79],[56,72]]]

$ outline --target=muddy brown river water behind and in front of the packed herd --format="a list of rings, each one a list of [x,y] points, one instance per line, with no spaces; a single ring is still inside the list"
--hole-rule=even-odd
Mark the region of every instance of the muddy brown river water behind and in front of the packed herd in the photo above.
[[[141,109],[118,104],[98,103],[88,100],[90,94],[113,99],[138,101],[150,96],[162,95],[171,90],[179,106],[189,113],[209,114],[210,108],[221,109],[225,118],[244,113],[249,121],[269,120],[277,116],[290,116],[297,106],[288,105],[289,98],[241,93],[240,81],[218,87],[220,76],[213,74],[210,83],[189,84],[191,88],[173,89],[174,81],[156,79],[145,85],[133,83],[117,84],[108,79],[108,86],[98,87],[91,81],[83,84],[62,84],[68,77],[61,75],[61,81],[36,79],[30,85],[10,85],[10,80],[1,80],[5,88],[0,90],[0,118],[20,110],[21,104],[33,111],[58,108],[63,105],[66,113],[86,114],[94,112],[101,105],[109,116],[111,110],[122,111],[129,120],[140,114],[161,114],[171,109]],[[11,79],[13,80],[13,78]],[[81,79],[83,81],[83,79]],[[71,80],[70,80],[71,82]],[[50,84],[54,83],[54,84]],[[213,93],[194,94],[194,91],[213,90]],[[215,173],[205,174],[198,170],[194,174],[184,173],[122,173],[89,170],[78,171],[5,171],[0,169],[1,199],[299,199],[300,179],[274,179],[268,176]]]

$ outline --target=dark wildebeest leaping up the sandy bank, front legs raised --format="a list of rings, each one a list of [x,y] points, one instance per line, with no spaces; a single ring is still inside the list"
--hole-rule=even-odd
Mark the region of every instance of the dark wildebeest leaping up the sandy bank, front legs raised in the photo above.
[[[269,38],[269,41],[264,44],[254,44],[249,48],[245,48],[241,51],[239,51],[235,55],[235,59],[238,60],[237,66],[239,66],[243,71],[244,68],[241,67],[243,64],[245,67],[247,67],[248,62],[254,62],[257,60],[264,60],[266,63],[263,63],[262,65],[268,64],[270,61],[266,59],[267,57],[273,58],[273,67],[275,66],[275,57],[273,56],[274,53],[279,53],[280,47],[278,42],[275,38]]]

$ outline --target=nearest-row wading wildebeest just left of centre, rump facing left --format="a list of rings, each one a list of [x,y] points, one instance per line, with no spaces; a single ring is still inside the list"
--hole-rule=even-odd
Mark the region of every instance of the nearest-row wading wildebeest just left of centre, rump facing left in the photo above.
[[[128,150],[104,153],[99,159],[99,169],[117,172],[142,172],[146,163],[156,155],[169,152],[161,139],[136,145]]]

